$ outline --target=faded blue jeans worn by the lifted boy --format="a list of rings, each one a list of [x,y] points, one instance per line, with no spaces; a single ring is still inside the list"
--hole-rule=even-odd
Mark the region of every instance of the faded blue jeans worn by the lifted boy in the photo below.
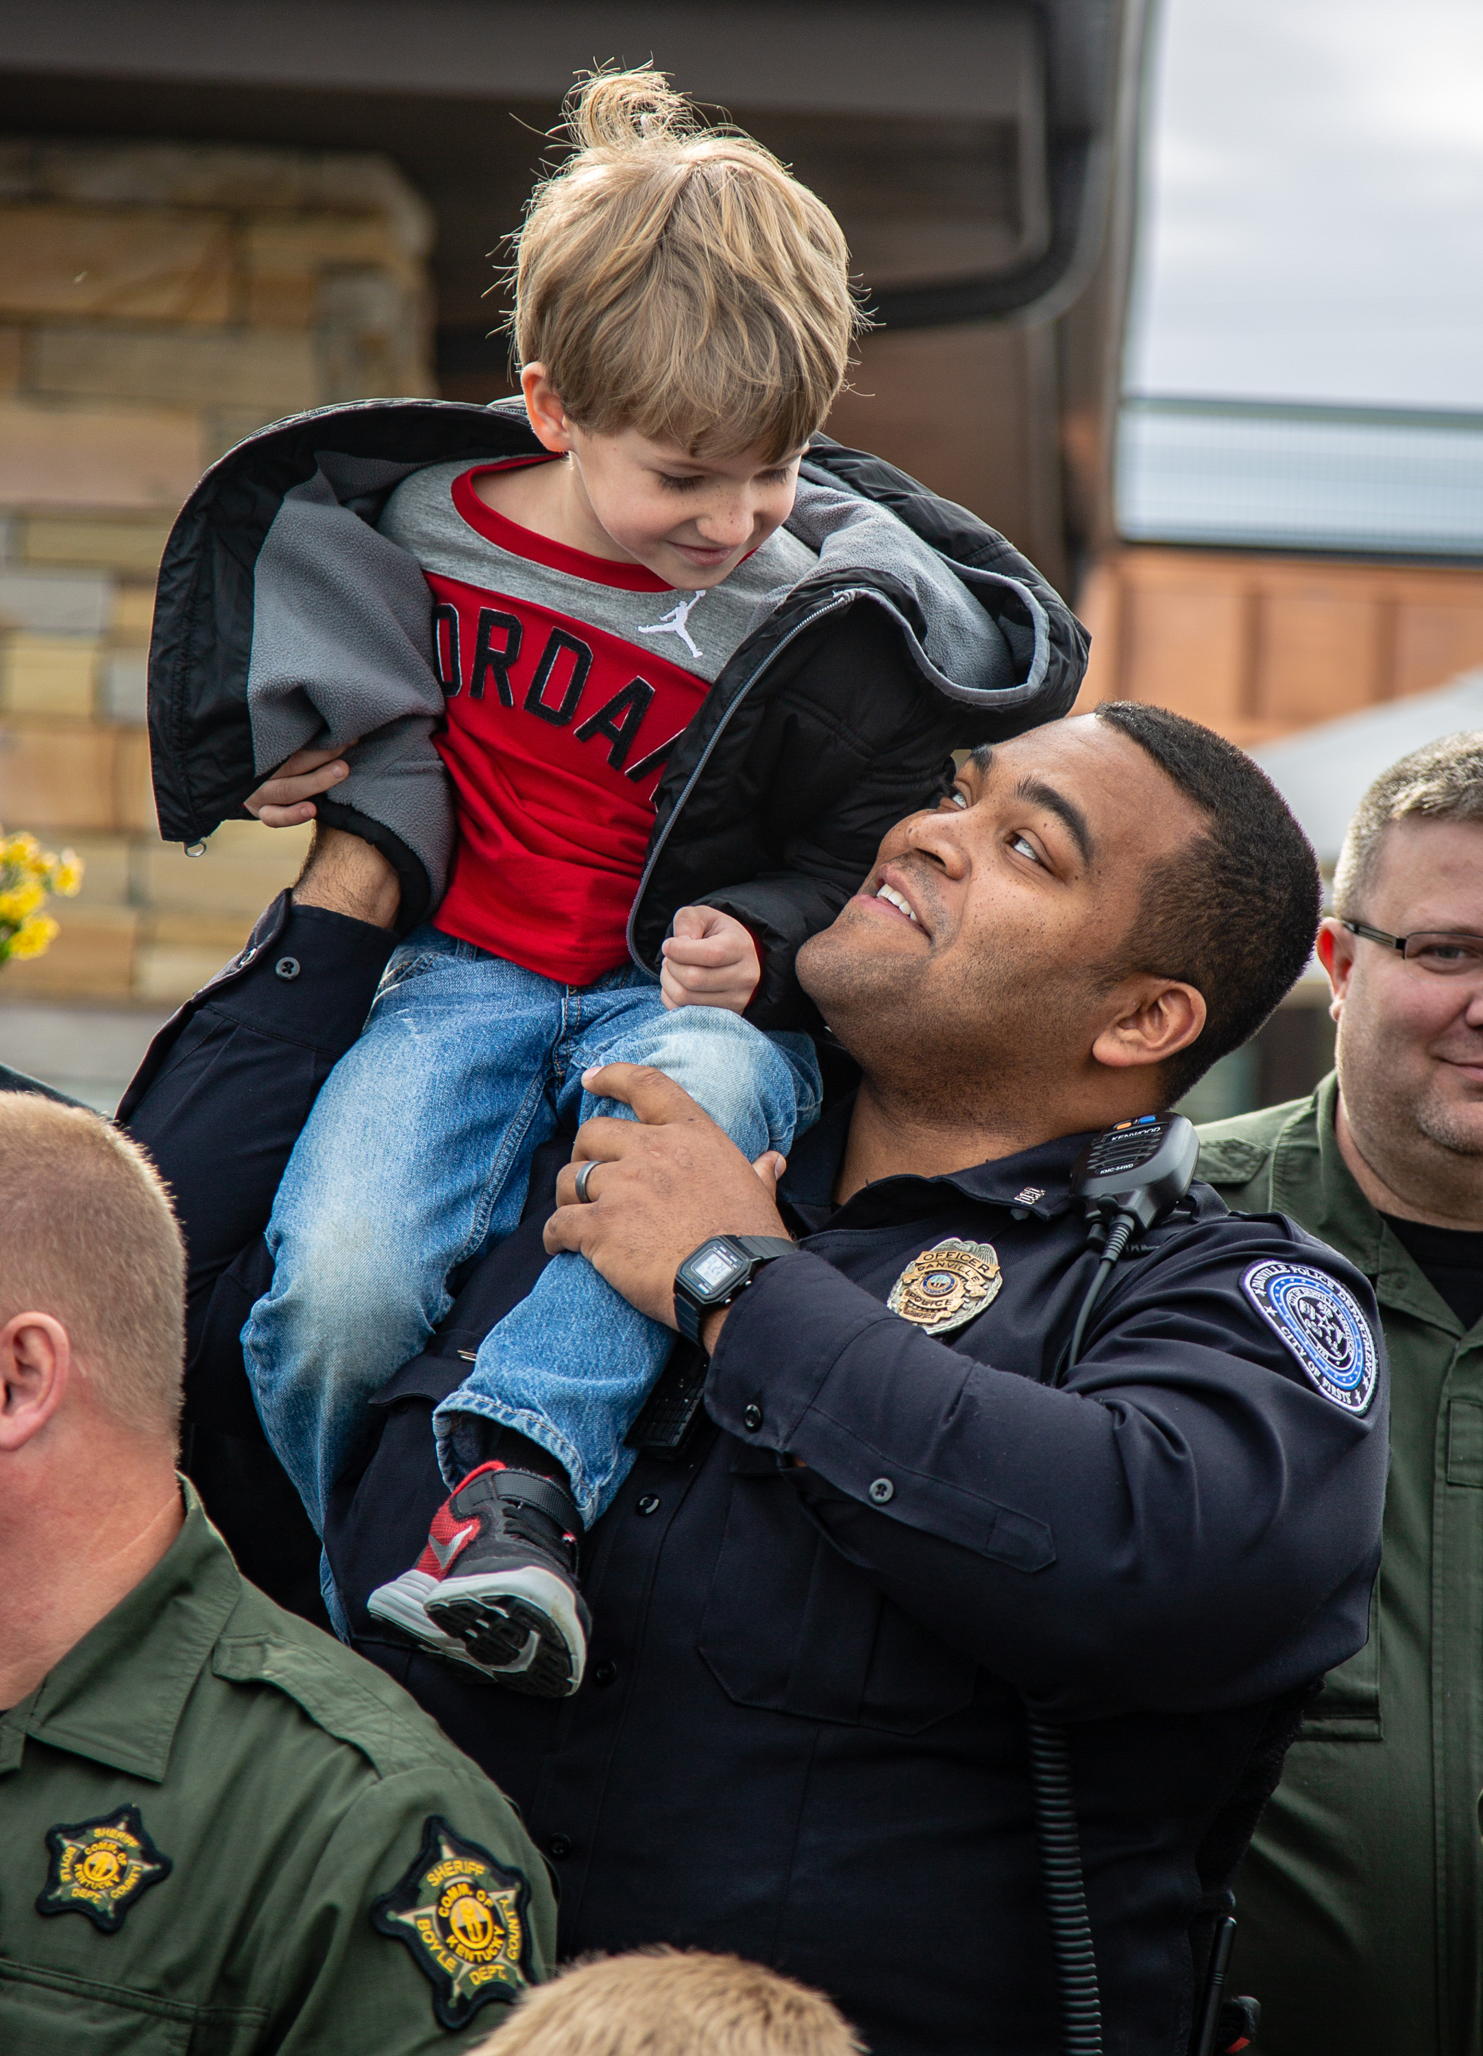
[[[668,1012],[644,970],[557,985],[434,927],[395,950],[288,1162],[274,1283],[243,1328],[267,1439],[321,1532],[366,1400],[453,1306],[448,1273],[516,1225],[557,1118],[634,1118],[582,1090],[596,1063],[666,1071],[749,1158],[788,1151],[819,1114],[808,1036]],[[483,1415],[557,1458],[590,1526],[627,1476],[623,1435],[673,1341],[584,1256],[555,1256],[434,1415],[448,1486],[467,1468],[459,1417]]]

